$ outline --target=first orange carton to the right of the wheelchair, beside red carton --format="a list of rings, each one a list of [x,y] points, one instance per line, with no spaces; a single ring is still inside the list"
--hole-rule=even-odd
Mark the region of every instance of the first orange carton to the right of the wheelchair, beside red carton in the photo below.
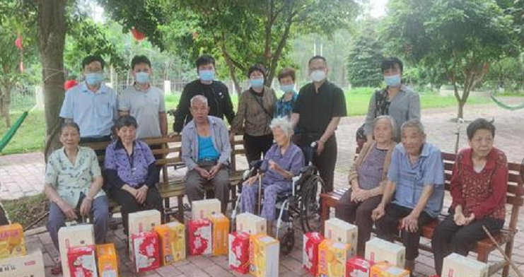
[[[349,244],[323,240],[318,247],[319,276],[346,277],[346,264],[350,253]]]

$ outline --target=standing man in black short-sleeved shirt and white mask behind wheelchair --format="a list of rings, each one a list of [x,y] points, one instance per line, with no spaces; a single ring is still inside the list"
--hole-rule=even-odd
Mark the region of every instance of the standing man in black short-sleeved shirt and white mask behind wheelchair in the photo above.
[[[334,131],[340,119],[347,116],[346,99],[341,88],[326,80],[327,63],[321,56],[309,60],[313,81],[303,86],[298,94],[291,122],[299,133],[298,146],[305,148],[318,143],[313,164],[318,168],[327,191],[333,191],[334,165],[337,163],[337,139]]]

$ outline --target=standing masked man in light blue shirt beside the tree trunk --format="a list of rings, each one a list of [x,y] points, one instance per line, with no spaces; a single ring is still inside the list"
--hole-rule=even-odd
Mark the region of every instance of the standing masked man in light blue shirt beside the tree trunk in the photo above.
[[[60,117],[80,126],[80,143],[110,141],[117,118],[117,96],[103,83],[105,62],[88,56],[82,61],[85,81],[66,91]]]

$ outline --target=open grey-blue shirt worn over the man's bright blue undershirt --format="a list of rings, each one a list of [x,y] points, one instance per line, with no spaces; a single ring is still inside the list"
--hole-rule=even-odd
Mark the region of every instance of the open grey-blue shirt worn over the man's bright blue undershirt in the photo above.
[[[229,132],[226,124],[218,117],[208,116],[209,132],[216,151],[219,151],[219,163],[229,165],[231,157],[231,143],[229,143]],[[187,166],[187,170],[193,170],[198,162],[198,131],[194,124],[194,119],[182,129],[182,160]]]

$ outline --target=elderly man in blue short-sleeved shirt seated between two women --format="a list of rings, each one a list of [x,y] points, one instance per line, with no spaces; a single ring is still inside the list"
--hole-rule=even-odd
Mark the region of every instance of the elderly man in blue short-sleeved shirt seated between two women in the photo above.
[[[441,212],[444,164],[441,151],[426,143],[418,119],[402,124],[402,143],[392,153],[382,201],[371,217],[379,237],[392,240],[401,232],[406,247],[406,269],[413,271],[419,256],[420,230]]]

